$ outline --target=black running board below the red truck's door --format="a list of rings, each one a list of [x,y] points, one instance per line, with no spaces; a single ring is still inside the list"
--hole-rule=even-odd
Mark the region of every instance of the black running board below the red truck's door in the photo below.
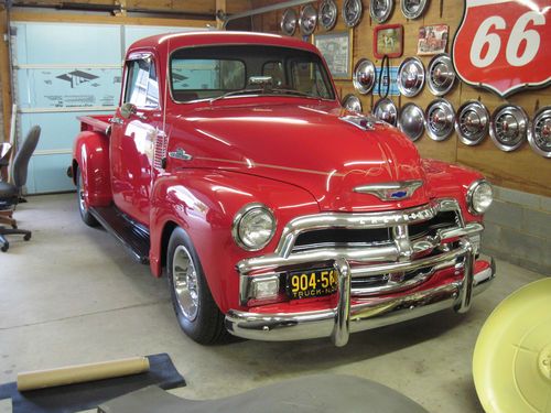
[[[149,231],[142,225],[132,221],[116,206],[90,207],[89,211],[134,259],[149,264]]]

